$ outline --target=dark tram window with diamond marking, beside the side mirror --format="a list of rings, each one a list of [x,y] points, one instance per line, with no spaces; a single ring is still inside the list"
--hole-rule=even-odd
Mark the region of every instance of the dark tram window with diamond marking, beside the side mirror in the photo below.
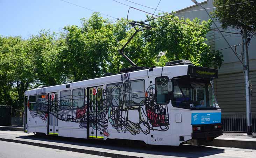
[[[156,78],[156,102],[158,104],[168,104],[169,93],[168,93],[168,77]]]

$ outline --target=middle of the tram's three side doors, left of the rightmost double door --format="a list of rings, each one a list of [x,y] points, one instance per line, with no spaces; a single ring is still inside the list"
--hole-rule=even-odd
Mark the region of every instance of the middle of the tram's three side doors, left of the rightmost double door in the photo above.
[[[48,134],[58,135],[58,92],[48,93]]]

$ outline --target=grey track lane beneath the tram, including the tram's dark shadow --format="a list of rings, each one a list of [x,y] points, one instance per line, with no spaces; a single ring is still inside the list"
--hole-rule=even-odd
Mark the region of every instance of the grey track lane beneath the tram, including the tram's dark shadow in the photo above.
[[[124,143],[121,140],[87,140],[79,138],[67,137],[37,137],[33,134],[24,134],[19,131],[0,131],[0,139],[12,140],[13,142],[20,141],[22,144],[30,144],[42,147],[86,153],[94,151],[93,155],[104,155],[109,157],[145,157],[145,158],[201,158],[201,157],[223,157],[223,158],[255,158],[256,150],[224,148],[213,146],[197,146],[197,145],[182,145],[182,146],[152,146],[152,149],[147,149],[143,142],[131,141]],[[43,144],[48,144],[43,146]],[[75,150],[74,150],[75,151]],[[202,152],[203,151],[203,152]],[[106,155],[109,153],[109,155]],[[89,153],[90,154],[90,153]]]

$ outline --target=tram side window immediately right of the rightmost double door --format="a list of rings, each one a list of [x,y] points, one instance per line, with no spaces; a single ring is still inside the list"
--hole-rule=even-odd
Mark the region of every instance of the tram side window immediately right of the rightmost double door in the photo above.
[[[108,107],[123,105],[123,84],[122,82],[106,86],[106,97]]]

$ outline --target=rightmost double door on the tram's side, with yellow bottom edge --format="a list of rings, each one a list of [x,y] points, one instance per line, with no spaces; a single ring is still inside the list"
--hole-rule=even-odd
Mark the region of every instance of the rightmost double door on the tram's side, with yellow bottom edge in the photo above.
[[[88,138],[103,139],[103,86],[87,88]]]

